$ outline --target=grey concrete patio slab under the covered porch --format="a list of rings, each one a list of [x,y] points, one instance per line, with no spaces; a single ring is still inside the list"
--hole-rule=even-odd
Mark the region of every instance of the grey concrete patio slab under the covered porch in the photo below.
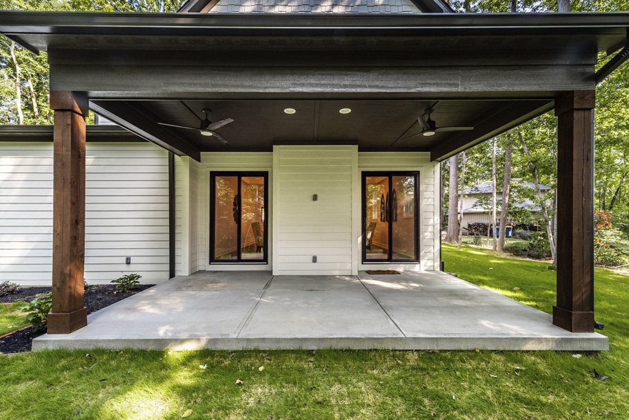
[[[443,272],[197,272],[90,314],[46,348],[608,350],[608,338]]]

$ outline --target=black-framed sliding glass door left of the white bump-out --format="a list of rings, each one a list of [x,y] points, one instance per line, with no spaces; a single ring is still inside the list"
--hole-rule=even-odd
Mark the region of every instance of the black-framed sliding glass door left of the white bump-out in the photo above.
[[[266,172],[212,172],[210,244],[214,263],[267,259]]]

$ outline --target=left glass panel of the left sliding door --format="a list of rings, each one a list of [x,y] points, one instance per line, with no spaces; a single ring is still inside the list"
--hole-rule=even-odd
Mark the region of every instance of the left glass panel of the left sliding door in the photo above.
[[[215,178],[214,259],[238,259],[238,177]]]

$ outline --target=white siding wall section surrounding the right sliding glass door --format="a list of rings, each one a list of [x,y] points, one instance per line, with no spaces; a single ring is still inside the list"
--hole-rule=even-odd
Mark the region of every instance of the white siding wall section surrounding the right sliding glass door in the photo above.
[[[430,161],[428,152],[359,152],[360,171],[419,172],[419,265],[390,264],[398,270],[439,270],[441,237],[439,234],[439,164]],[[380,270],[380,264],[360,264],[360,270]]]

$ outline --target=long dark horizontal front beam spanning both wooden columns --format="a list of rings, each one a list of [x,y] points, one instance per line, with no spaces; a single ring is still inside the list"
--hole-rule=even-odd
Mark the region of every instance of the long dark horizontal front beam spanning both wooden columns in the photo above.
[[[177,83],[172,83],[176,80]],[[440,99],[511,99],[537,92],[552,99],[557,92],[595,88],[593,66],[451,66],[372,68],[251,68],[179,66],[50,66],[50,88],[81,90],[90,99],[227,99],[241,94],[278,97],[305,94],[366,99],[415,96]]]

